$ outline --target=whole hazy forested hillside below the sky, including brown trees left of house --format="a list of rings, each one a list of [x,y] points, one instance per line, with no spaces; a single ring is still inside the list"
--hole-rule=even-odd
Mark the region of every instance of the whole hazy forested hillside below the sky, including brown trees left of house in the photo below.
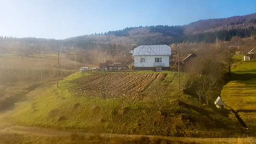
[[[226,46],[232,45],[225,43],[225,41],[229,42],[234,37],[256,38],[256,13],[230,18],[200,20],[183,26],[126,27],[122,30],[59,40],[0,36],[0,53],[29,56],[35,53],[43,55],[47,52],[60,50],[61,53],[67,54],[69,60],[98,64],[104,61],[104,56],[110,60],[120,60],[121,58],[129,60],[128,52],[134,44],[139,46],[183,43],[183,48],[188,49],[194,47],[189,47],[190,43],[216,43],[219,51],[221,51],[224,46],[226,48]],[[184,44],[187,44],[187,47]]]

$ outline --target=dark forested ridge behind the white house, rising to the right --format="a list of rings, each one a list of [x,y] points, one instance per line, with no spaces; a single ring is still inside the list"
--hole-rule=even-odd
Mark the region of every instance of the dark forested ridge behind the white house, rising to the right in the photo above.
[[[216,38],[229,41],[233,36],[244,38],[252,35],[256,35],[256,13],[229,18],[199,20],[183,26],[127,27],[104,34],[77,36],[66,40],[73,39],[75,42],[80,38],[83,38],[85,41],[92,38],[97,43],[98,37],[101,37],[98,42],[102,43],[106,42],[106,40],[107,42],[120,41],[116,39],[125,37],[131,41],[136,41],[138,45],[169,45],[171,43],[201,41],[212,43]]]

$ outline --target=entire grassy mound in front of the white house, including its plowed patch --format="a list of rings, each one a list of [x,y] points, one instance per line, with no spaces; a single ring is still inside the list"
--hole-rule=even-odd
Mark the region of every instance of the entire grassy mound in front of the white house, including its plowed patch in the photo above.
[[[95,78],[98,75],[114,77],[111,84],[119,84],[125,78],[134,80],[122,84],[123,93],[114,93],[116,87],[111,84],[105,87],[108,88],[105,94],[100,89],[76,88],[109,82],[99,82]],[[129,88],[140,87],[142,82],[136,80],[147,75],[155,75],[155,80],[145,79],[150,84],[130,95]],[[59,88],[54,85],[24,103],[10,120],[28,126],[92,133],[185,137],[253,135],[244,133],[231,110],[220,111],[197,97],[179,94],[177,83],[177,72],[76,72],[64,78]]]

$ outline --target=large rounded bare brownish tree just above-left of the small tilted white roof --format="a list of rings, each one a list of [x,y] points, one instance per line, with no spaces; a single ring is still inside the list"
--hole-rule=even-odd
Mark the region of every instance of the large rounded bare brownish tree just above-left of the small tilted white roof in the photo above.
[[[206,100],[207,105],[208,101],[218,94],[221,86],[220,81],[225,69],[223,63],[219,61],[220,59],[205,55],[198,56],[185,65],[190,86],[193,87],[200,100],[202,98]]]

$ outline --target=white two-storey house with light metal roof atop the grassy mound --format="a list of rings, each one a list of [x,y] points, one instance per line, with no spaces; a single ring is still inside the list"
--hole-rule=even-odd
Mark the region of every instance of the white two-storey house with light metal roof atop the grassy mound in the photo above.
[[[134,70],[170,70],[171,48],[166,45],[144,45],[134,48]]]

